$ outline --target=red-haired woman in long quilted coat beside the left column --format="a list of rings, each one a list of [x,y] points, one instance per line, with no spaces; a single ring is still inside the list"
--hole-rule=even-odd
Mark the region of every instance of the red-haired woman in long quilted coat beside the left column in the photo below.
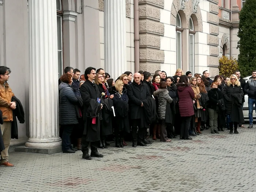
[[[75,105],[78,103],[74,90],[71,87],[72,75],[64,74],[60,78],[59,85],[60,101],[59,101],[59,123],[63,128],[62,133],[62,151],[63,153],[75,153],[76,149],[72,148],[70,136],[78,124],[78,116]]]

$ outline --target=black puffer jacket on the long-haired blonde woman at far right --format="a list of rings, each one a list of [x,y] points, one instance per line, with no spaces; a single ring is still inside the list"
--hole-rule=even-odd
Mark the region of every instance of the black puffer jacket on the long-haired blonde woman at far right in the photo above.
[[[232,84],[230,86],[226,86],[223,88],[223,91],[222,91],[222,95],[223,95],[223,98],[225,99],[225,102],[226,102],[226,110],[227,110],[227,114],[231,114],[231,111],[232,111],[232,95],[233,94],[242,94],[244,95],[244,92],[242,90],[242,87],[241,86],[233,86]]]

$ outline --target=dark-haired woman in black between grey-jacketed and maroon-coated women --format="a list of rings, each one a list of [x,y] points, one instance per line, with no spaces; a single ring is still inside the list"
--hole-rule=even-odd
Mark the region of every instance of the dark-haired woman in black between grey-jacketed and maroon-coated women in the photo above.
[[[166,78],[166,84],[167,84],[167,90],[169,91],[169,95],[170,97],[173,99],[173,105],[174,105],[174,109],[175,111],[173,111],[172,113],[172,119],[173,122],[170,126],[167,127],[167,133],[168,133],[168,138],[175,138],[175,136],[177,136],[177,133],[179,133],[180,128],[179,128],[179,124],[180,123],[176,123],[176,122],[180,122],[180,114],[178,113],[178,92],[177,92],[177,87],[175,84],[175,80],[173,77],[167,77]],[[175,124],[176,123],[176,124]],[[175,126],[174,126],[175,124]],[[175,131],[173,131],[173,126]]]

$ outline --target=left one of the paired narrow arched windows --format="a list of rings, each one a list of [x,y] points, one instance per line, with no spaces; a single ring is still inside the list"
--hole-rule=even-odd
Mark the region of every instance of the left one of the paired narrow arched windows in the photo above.
[[[176,16],[176,66],[182,68],[182,23],[180,14]]]

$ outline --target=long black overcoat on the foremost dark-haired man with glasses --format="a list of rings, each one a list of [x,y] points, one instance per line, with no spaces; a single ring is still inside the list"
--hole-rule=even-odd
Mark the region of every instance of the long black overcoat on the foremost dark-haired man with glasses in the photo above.
[[[100,118],[101,113],[99,116],[96,117],[96,124],[92,124],[92,118],[87,117],[88,108],[90,106],[90,102],[97,102],[97,98],[101,98],[101,93],[99,92],[98,86],[92,83],[90,80],[86,80],[80,87],[80,93],[83,99],[83,120],[84,120],[84,132],[83,134],[86,135],[87,141],[99,141],[100,139]],[[101,99],[101,103],[103,104],[104,101]]]

